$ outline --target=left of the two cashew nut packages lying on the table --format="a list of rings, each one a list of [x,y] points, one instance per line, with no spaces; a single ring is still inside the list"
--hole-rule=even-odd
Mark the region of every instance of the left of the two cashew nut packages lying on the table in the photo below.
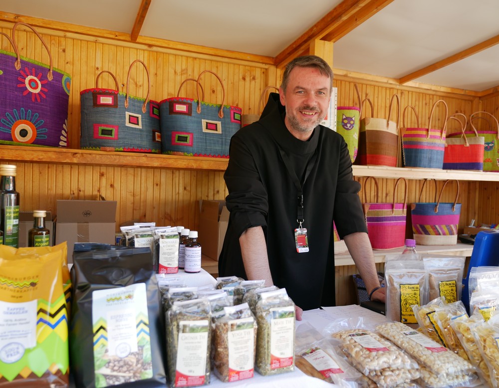
[[[378,334],[365,329],[332,334],[352,365],[379,387],[395,387],[419,378],[418,364]]]

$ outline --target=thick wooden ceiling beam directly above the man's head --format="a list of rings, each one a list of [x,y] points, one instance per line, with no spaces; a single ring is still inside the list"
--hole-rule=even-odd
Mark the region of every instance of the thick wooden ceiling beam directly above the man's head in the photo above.
[[[336,41],[338,32],[346,34],[367,20],[393,0],[343,0],[331,9],[317,23],[282,50],[274,59],[277,67],[284,66],[290,59],[308,51],[310,42],[316,39]],[[350,28],[351,25],[351,28]]]

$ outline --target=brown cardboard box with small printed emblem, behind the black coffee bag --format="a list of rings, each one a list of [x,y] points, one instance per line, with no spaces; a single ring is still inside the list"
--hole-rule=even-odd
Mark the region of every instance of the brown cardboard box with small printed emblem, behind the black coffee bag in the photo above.
[[[57,200],[55,244],[67,241],[68,263],[73,262],[75,242],[114,245],[116,201]]]

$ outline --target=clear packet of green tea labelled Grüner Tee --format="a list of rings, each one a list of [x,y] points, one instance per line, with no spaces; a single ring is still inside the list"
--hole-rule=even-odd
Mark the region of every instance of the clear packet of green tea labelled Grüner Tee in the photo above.
[[[166,352],[170,387],[210,383],[211,308],[207,299],[175,302],[166,314]]]

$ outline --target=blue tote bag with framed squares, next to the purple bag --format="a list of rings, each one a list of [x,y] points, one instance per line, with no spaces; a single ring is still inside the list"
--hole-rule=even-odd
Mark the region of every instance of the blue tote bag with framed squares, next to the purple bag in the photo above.
[[[147,74],[145,98],[129,94],[132,67],[141,63]],[[98,82],[102,73],[109,73],[116,89],[101,89]],[[149,100],[151,81],[144,62],[136,59],[128,69],[126,93],[118,91],[116,77],[107,70],[101,71],[95,88],[80,92],[81,139],[83,150],[161,153],[159,104]]]

